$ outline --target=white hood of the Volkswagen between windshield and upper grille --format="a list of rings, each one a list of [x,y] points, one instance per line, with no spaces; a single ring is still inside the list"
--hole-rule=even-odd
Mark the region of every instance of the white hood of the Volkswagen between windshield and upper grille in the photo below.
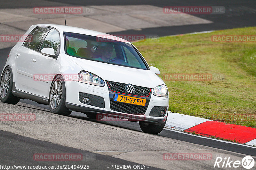
[[[69,59],[82,67],[84,71],[96,74],[103,80],[121,82],[148,88],[155,88],[156,86],[165,84],[164,81],[151,70],[118,66],[71,56],[69,56]]]

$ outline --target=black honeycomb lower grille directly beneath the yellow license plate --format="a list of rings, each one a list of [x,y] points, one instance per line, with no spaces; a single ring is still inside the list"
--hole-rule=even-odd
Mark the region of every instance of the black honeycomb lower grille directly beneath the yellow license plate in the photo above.
[[[122,113],[129,113],[133,115],[144,115],[148,106],[138,106],[134,104],[114,102],[110,100],[110,109]]]

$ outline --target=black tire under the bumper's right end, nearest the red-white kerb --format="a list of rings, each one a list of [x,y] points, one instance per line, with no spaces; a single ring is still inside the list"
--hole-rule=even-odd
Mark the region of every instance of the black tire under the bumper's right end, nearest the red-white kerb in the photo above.
[[[160,125],[156,125],[156,124],[149,124],[149,123],[146,123],[146,122],[143,122],[143,121],[140,121],[139,124],[140,124],[140,129],[145,132],[145,133],[151,133],[151,134],[157,134],[157,133],[160,133],[163,129],[164,129],[164,126],[166,124],[166,121],[167,121],[167,117],[166,117],[166,120],[163,124],[160,124]]]

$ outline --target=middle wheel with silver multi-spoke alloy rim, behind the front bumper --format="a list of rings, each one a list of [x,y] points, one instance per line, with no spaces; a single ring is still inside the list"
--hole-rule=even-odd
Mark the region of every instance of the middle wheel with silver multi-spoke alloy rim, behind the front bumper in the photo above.
[[[66,87],[61,75],[58,75],[51,86],[49,106],[52,113],[68,116],[72,111],[68,110],[66,103]]]

